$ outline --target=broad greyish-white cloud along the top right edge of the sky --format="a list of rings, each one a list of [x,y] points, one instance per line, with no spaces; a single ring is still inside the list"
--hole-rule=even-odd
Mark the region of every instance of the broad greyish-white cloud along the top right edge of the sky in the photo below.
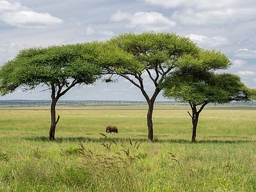
[[[256,1],[239,0],[141,0],[148,4],[173,9],[172,19],[181,24],[196,26],[233,26],[236,22],[254,20]]]

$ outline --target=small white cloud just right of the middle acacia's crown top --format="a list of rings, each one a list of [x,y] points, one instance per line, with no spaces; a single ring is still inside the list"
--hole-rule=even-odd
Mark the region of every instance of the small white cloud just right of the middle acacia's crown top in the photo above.
[[[187,35],[193,42],[202,47],[222,47],[223,45],[230,45],[232,42],[225,36],[213,36],[212,38],[204,35]]]

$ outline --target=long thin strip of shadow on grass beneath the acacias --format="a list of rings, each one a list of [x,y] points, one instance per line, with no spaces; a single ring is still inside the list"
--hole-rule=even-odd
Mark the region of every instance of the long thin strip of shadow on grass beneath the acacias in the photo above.
[[[54,143],[65,143],[65,142],[77,142],[77,143],[86,143],[86,142],[95,142],[95,143],[102,143],[102,142],[108,142],[108,141],[140,141],[140,142],[148,142],[147,138],[111,138],[108,136],[104,136],[105,134],[101,134],[102,136],[99,137],[58,137],[55,138],[54,141],[49,141],[49,137],[47,136],[31,136],[31,137],[24,137],[25,140],[30,141],[49,141]],[[148,142],[149,143],[149,142]],[[191,140],[180,140],[180,139],[156,139],[153,141],[153,143],[225,143],[225,144],[236,144],[236,143],[256,143],[254,140],[198,140],[195,141],[195,143],[192,143]]]

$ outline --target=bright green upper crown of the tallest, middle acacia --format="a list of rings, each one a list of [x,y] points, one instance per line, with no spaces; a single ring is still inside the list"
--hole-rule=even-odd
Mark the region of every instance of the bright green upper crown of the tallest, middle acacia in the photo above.
[[[173,68],[183,54],[193,55],[199,51],[196,44],[189,38],[175,33],[124,33],[113,37],[111,43],[132,54],[135,60],[144,65],[143,69],[145,70]],[[137,74],[134,71],[129,72],[129,70],[123,73]],[[138,74],[140,73],[141,71],[138,71]]]

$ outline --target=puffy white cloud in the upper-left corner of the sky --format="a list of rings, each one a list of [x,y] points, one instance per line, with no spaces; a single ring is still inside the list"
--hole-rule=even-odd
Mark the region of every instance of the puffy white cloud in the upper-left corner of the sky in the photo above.
[[[62,19],[53,17],[49,13],[37,13],[29,10],[20,3],[0,1],[0,20],[17,28],[45,28],[53,24],[61,24]]]

